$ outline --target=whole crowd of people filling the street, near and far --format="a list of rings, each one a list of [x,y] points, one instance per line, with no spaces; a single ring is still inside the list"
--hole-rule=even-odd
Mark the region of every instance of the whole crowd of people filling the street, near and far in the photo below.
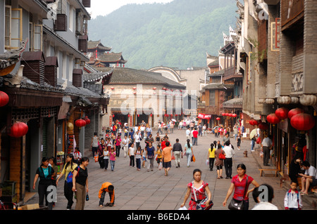
[[[181,125],[180,125],[181,124]],[[186,126],[185,126],[186,124]],[[159,121],[158,131],[153,136],[152,129],[149,125],[142,121],[139,126],[128,128],[128,124],[120,126],[116,121],[113,125],[107,129],[104,138],[99,138],[97,133],[92,136],[92,157],[95,162],[99,162],[100,169],[108,171],[110,164],[111,171],[115,171],[116,159],[120,157],[120,150],[123,150],[123,157],[128,157],[130,168],[135,168],[140,171],[142,168],[147,169],[148,172],[154,171],[154,166],[157,169],[163,170],[164,175],[168,176],[168,172],[172,167],[173,161],[175,168],[180,168],[180,159],[187,157],[186,165],[190,167],[191,163],[195,161],[194,157],[194,145],[198,145],[198,136],[204,136],[206,130],[200,123],[191,122],[189,126],[187,121],[178,122],[180,130],[186,130],[186,142],[180,143],[180,139],[176,138],[175,142],[170,140],[168,134],[173,133],[175,121],[168,121],[168,125]],[[183,128],[182,126],[185,126]],[[223,127],[219,127],[223,129]],[[216,130],[216,129],[215,129]],[[161,132],[160,132],[161,131]],[[165,132],[165,133],[163,133]],[[215,131],[216,136],[217,131]],[[248,176],[247,168],[244,164],[237,165],[237,175],[232,175],[232,158],[235,155],[235,144],[232,144],[233,138],[230,138],[230,129],[223,129],[220,133],[220,140],[214,140],[211,143],[208,150],[208,157],[206,158],[206,164],[209,165],[209,170],[213,171],[216,167],[217,179],[223,178],[223,168],[225,169],[225,178],[231,179],[231,185],[228,189],[227,195],[223,201],[223,206],[227,206],[229,209],[248,210],[249,209],[249,194],[252,193],[254,202],[254,210],[256,209],[274,209],[277,207],[271,202],[273,200],[273,187],[270,185],[259,185],[256,180],[251,176]],[[218,138],[217,133],[217,138]],[[242,142],[240,127],[235,125],[233,128],[232,136],[235,137],[237,143],[237,149],[240,150],[240,143]],[[145,147],[142,147],[145,144]],[[271,149],[271,140],[269,136],[264,136],[261,147],[264,151],[263,165],[267,163],[267,150]],[[121,153],[122,153],[121,152]],[[307,194],[309,185],[316,185],[316,169],[310,164],[302,163],[302,161],[295,161],[300,164],[306,173],[299,174],[302,176],[302,183],[304,188],[302,192],[297,190],[298,183],[291,182],[290,190],[285,195],[285,209],[302,209],[301,195]],[[56,162],[55,162],[56,163]],[[154,165],[156,163],[156,165]],[[42,164],[37,169],[37,175],[35,176],[33,189],[35,189],[35,183],[37,178],[39,181],[39,204],[44,206],[44,197],[47,197],[45,189],[50,184],[50,180],[54,182],[56,187],[59,180],[64,176],[64,196],[68,200],[67,209],[70,210],[73,205],[73,194],[75,192],[75,198],[77,200],[75,209],[82,210],[85,208],[85,201],[89,199],[88,192],[88,171],[87,166],[89,159],[82,157],[78,148],[73,154],[68,154],[66,157],[66,165],[61,171],[61,175],[56,178],[56,166],[54,165],[54,158],[43,158]],[[51,166],[51,168],[49,167]],[[127,162],[128,166],[128,162]],[[249,185],[254,185],[254,188],[249,190]],[[261,192],[265,188],[268,190],[268,200],[265,202],[260,198]],[[105,195],[108,192],[110,201],[104,204]],[[230,195],[232,200],[228,203]],[[193,210],[206,210],[211,209],[213,202],[211,201],[211,190],[209,184],[206,181],[201,180],[201,170],[194,169],[193,181],[187,185],[187,192],[185,199],[181,204],[181,208],[184,208],[187,199],[191,197],[189,202],[189,208]],[[54,203],[48,203],[46,200],[46,206],[49,209],[54,207]],[[111,183],[105,182],[102,184],[99,190],[99,206],[116,206],[114,186]]]

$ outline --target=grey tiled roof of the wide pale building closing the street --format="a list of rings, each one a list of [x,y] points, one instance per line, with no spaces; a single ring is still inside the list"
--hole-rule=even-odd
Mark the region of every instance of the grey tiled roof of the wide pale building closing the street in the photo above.
[[[162,84],[175,88],[186,88],[176,81],[163,77],[161,73],[115,67],[109,84]]]

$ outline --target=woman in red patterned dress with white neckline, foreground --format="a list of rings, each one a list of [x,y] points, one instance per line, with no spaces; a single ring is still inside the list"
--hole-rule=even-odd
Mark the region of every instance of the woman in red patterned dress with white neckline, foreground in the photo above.
[[[209,184],[206,183],[204,180],[201,180],[200,169],[194,169],[193,178],[194,180],[187,185],[185,199],[184,202],[182,202],[182,204],[180,205],[180,207],[185,206],[185,203],[189,195],[192,193],[188,210],[209,210],[213,205],[213,203],[211,202],[211,191],[209,190]],[[201,207],[197,206],[199,202],[206,198],[207,200],[205,204],[202,204]]]

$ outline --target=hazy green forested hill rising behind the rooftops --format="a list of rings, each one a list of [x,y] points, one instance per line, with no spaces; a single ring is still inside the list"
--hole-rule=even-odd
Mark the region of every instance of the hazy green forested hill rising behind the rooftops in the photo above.
[[[89,40],[101,39],[123,52],[126,67],[206,66],[206,52],[218,55],[222,33],[235,28],[235,0],[174,0],[169,4],[129,4],[89,21]]]

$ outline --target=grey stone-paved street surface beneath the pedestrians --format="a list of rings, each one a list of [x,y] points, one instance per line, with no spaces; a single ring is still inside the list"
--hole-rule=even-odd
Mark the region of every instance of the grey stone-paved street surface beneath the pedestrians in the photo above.
[[[154,131],[155,132],[155,131]],[[156,135],[156,133],[154,133]],[[180,143],[184,147],[186,143],[186,136],[184,130],[175,130],[174,133],[168,134],[171,143],[175,143],[175,139],[179,138]],[[193,147],[196,162],[192,162],[191,166],[187,168],[186,157],[181,159],[180,168],[176,169],[174,161],[172,169],[170,169],[168,176],[164,176],[164,171],[158,170],[158,165],[154,162],[154,171],[147,172],[147,168],[142,168],[137,171],[136,168],[129,166],[130,159],[123,157],[123,150],[120,157],[116,160],[114,171],[111,169],[104,171],[99,168],[99,163],[95,163],[90,155],[90,162],[88,165],[89,171],[89,201],[85,204],[85,210],[177,210],[185,196],[186,187],[192,181],[192,171],[194,169],[201,169],[202,178],[209,183],[212,193],[213,208],[212,210],[228,210],[223,207],[222,202],[227,194],[230,186],[230,179],[225,179],[225,170],[223,170],[223,179],[216,178],[216,168],[209,171],[209,166],[206,165],[208,149],[213,140],[222,140],[215,138],[213,134],[207,136],[199,136],[198,145]],[[260,176],[259,166],[261,166],[259,149],[256,152],[250,152],[250,140],[243,140],[241,150],[237,150],[235,138],[231,137],[231,142],[235,147],[235,157],[233,159],[232,176],[235,176],[237,164],[244,163],[247,166],[247,174],[254,178],[259,184],[268,183],[272,185],[275,190],[275,198],[273,204],[278,206],[278,209],[284,209],[283,199],[286,188],[280,187],[280,177],[266,173],[266,176]],[[144,147],[144,142],[142,147]],[[248,157],[243,156],[244,150],[248,150]],[[272,173],[273,174],[273,173]],[[104,182],[111,182],[115,186],[116,192],[116,206],[102,207],[99,205],[98,192],[101,184]],[[62,183],[62,181],[60,182]],[[253,187],[252,185],[250,187]],[[250,195],[251,196],[251,195]],[[230,197],[231,199],[231,197]],[[230,199],[228,202],[230,202]],[[105,197],[105,203],[108,202],[108,194]],[[74,201],[75,202],[75,201]],[[249,200],[249,209],[254,207],[252,198]],[[38,203],[38,196],[35,194],[27,204]],[[189,199],[187,200],[187,204]],[[58,202],[54,210],[66,209],[66,198],[63,196],[63,184],[58,186]],[[75,209],[75,203],[73,208]],[[304,209],[310,209],[304,207]]]

